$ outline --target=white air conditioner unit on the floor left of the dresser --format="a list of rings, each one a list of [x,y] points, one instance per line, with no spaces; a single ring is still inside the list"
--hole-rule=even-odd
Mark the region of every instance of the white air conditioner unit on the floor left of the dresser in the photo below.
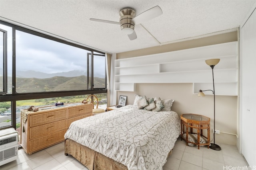
[[[14,128],[0,131],[0,166],[18,158],[18,133]]]

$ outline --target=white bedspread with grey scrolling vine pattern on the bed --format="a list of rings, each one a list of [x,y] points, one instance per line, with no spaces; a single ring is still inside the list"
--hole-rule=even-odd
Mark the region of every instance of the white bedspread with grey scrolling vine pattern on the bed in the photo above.
[[[162,170],[179,135],[176,112],[127,105],[74,121],[65,139],[112,158],[128,170]]]

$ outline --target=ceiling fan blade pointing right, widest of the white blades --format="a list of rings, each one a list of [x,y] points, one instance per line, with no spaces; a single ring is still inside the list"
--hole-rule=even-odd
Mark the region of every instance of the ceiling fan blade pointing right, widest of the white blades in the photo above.
[[[162,9],[159,6],[155,6],[153,8],[150,8],[149,10],[146,10],[146,11],[142,12],[138,16],[134,17],[132,19],[132,21],[135,24],[140,24],[140,23],[149,21],[149,20],[151,20],[153,18],[156,18],[156,17],[158,17],[158,16],[160,16],[162,14],[163,14]]]

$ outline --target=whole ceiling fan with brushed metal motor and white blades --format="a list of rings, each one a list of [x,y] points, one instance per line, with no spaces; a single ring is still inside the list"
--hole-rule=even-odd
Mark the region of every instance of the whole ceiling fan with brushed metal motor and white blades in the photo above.
[[[126,33],[130,40],[134,40],[137,38],[136,32],[134,31],[135,25],[149,21],[153,18],[156,18],[162,15],[163,12],[159,6],[155,6],[153,8],[150,8],[149,10],[142,12],[137,16],[136,16],[135,10],[131,8],[124,8],[120,11],[119,14],[120,14],[119,22],[100,20],[95,18],[90,18],[90,20],[105,22],[105,23],[120,24],[122,32]]]

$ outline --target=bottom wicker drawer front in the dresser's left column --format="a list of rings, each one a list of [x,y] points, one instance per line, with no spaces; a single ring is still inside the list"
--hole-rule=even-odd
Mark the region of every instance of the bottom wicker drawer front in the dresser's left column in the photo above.
[[[62,131],[57,131],[54,133],[50,133],[49,135],[44,135],[42,137],[30,140],[29,150],[33,152],[33,150],[45,148],[47,145],[51,145],[59,141],[64,141],[64,134],[66,133],[66,131],[67,130],[64,129]]]

